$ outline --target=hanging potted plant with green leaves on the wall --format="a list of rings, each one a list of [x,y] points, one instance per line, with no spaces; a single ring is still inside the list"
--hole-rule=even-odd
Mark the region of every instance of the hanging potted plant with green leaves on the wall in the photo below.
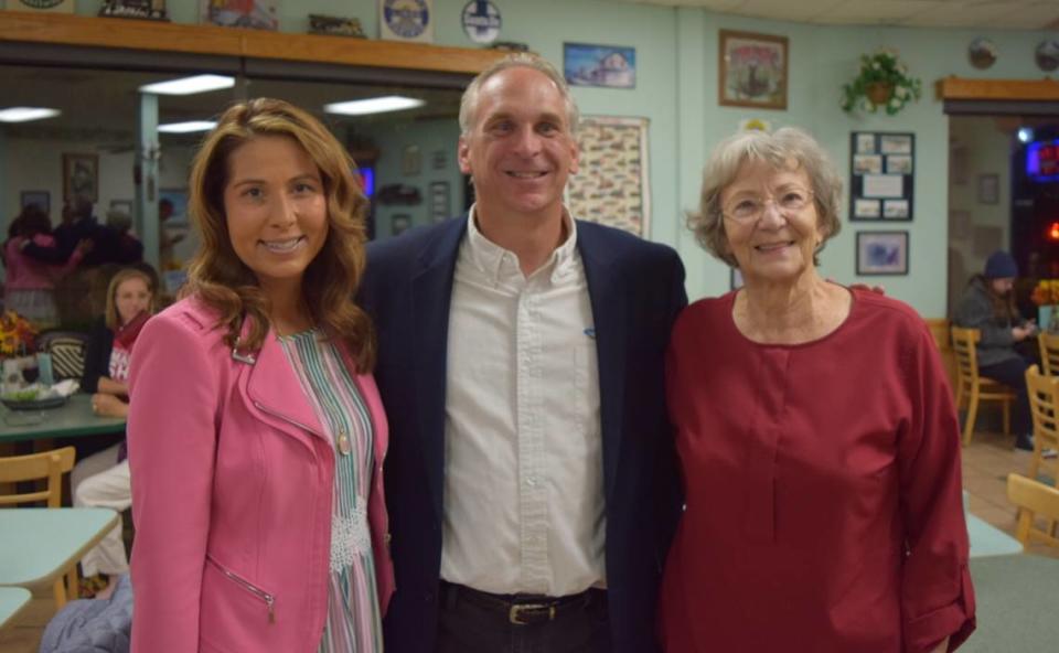
[[[860,55],[860,73],[842,87],[842,110],[862,108],[876,113],[880,108],[894,116],[905,105],[919,99],[922,84],[908,74],[908,67],[891,50]]]

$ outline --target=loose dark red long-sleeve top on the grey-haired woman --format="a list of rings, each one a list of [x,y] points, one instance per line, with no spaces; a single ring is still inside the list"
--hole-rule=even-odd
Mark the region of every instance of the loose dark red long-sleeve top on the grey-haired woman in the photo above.
[[[687,506],[665,651],[954,650],[975,623],[960,438],[922,319],[855,291],[834,332],[768,345],[734,301],[688,307],[668,352]]]

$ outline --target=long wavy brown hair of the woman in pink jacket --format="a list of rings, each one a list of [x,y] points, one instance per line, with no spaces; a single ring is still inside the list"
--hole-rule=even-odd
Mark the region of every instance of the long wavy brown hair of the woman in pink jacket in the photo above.
[[[310,317],[329,338],[342,341],[359,373],[375,365],[375,336],[367,313],[353,302],[364,271],[367,200],[353,178],[353,160],[314,117],[279,99],[257,98],[228,108],[206,136],[191,170],[189,208],[202,245],[182,295],[195,295],[218,313],[225,343],[259,350],[268,332],[269,304],[254,272],[232,246],[224,213],[228,158],[263,136],[297,141],[320,170],[328,202],[328,236],[302,278]],[[244,321],[248,332],[240,340]]]

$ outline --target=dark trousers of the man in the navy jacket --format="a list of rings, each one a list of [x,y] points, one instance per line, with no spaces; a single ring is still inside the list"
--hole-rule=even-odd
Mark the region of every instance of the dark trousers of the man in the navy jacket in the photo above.
[[[510,601],[505,603],[505,600]],[[560,599],[554,618],[547,609],[512,623],[511,602],[547,599],[484,595],[442,582],[436,653],[610,653],[607,592],[590,589]],[[516,615],[517,620],[522,620]]]

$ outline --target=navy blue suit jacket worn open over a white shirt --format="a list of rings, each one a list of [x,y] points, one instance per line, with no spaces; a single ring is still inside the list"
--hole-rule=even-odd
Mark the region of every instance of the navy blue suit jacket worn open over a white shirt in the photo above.
[[[386,500],[397,591],[386,650],[432,653],[441,567],[446,346],[461,220],[372,243],[362,306],[378,334],[378,383],[391,441]],[[606,565],[614,651],[657,650],[662,565],[681,510],[663,363],[687,303],[673,249],[578,222],[599,360],[607,515]]]

